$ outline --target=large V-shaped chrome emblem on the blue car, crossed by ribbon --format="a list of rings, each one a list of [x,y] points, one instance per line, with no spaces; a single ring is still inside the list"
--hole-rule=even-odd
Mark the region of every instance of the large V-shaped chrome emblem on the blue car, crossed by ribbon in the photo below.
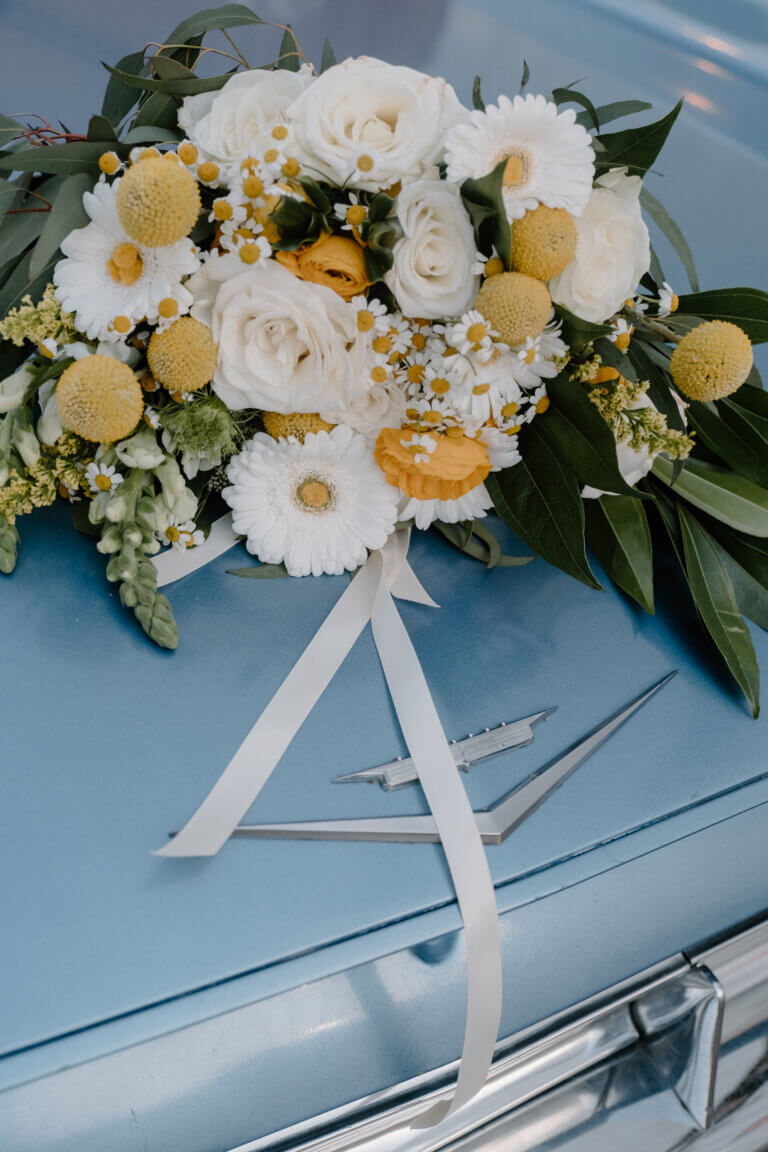
[[[484,844],[501,844],[539,805],[592,756],[659,689],[668,684],[670,672],[657,684],[631,700],[594,728],[563,756],[537,768],[491,808],[474,813]],[[482,734],[485,735],[485,734]],[[474,737],[472,737],[474,738]],[[431,816],[363,817],[342,820],[303,820],[296,824],[241,824],[234,836],[263,840],[367,840],[395,843],[438,843]]]

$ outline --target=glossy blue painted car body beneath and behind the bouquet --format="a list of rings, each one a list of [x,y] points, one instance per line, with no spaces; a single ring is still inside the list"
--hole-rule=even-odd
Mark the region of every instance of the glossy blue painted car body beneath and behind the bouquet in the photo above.
[[[174,0],[164,21],[187,7]],[[533,90],[588,73],[598,103],[700,97],[652,188],[685,221],[705,286],[765,283],[754,237],[768,194],[766,90],[737,78],[724,53],[722,75],[699,67],[680,50],[682,25],[677,39],[655,40],[598,7],[429,6],[431,35],[419,33],[408,62],[464,94],[480,70],[488,99],[516,89],[524,55]],[[340,56],[367,47],[402,59],[379,37],[397,26],[391,6],[386,18],[365,13],[366,40],[341,8],[325,9]],[[295,9],[284,6],[301,31]],[[0,583],[13,749],[0,778],[0,870],[15,878],[0,894],[10,926],[0,937],[0,1089],[17,1085],[0,1094],[0,1146],[214,1152],[453,1059],[462,947],[438,849],[233,842],[211,861],[151,855],[216,779],[344,581],[239,581],[226,574],[235,554],[221,558],[169,590],[182,631],[170,655],[109,594],[102,558],[66,509],[21,526],[17,571]],[[476,806],[680,669],[488,851],[504,912],[503,1034],[768,905],[767,729],[748,719],[685,601],[671,591],[649,619],[613,588],[591,592],[541,561],[486,573],[423,536],[412,562],[442,607],[401,611],[449,736],[560,705],[531,748],[472,770]],[[766,636],[755,644],[768,668]],[[423,811],[416,789],[330,783],[402,751],[366,634],[251,816]]]

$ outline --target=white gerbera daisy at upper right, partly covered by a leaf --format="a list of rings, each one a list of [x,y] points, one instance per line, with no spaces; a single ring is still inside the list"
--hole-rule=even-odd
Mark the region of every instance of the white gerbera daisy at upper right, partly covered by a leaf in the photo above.
[[[493,172],[504,159],[510,220],[538,204],[581,214],[592,190],[594,152],[572,108],[558,112],[543,96],[500,96],[497,106],[470,113],[469,122],[446,134],[447,175],[457,184]]]

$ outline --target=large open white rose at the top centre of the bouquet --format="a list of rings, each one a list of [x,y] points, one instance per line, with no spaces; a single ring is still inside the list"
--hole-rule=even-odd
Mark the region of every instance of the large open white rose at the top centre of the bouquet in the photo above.
[[[446,130],[469,116],[450,84],[371,56],[328,68],[292,105],[298,159],[334,184],[375,191],[442,158]],[[370,169],[358,168],[360,157]]]

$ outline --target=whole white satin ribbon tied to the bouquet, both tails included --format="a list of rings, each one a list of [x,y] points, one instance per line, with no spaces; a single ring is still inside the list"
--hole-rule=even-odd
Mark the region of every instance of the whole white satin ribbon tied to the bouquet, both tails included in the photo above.
[[[396,596],[436,607],[408,564],[409,539],[409,531],[398,531],[370,555],[207,797],[157,855],[212,856],[219,851],[371,621],[397,719],[446,854],[465,931],[467,1007],[458,1078],[453,1097],[440,1100],[413,1123],[427,1128],[466,1104],[487,1078],[501,1018],[501,945],[493,880],[474,813],[393,599]],[[223,529],[214,554],[225,551],[222,541]],[[180,559],[187,555],[182,553]]]

